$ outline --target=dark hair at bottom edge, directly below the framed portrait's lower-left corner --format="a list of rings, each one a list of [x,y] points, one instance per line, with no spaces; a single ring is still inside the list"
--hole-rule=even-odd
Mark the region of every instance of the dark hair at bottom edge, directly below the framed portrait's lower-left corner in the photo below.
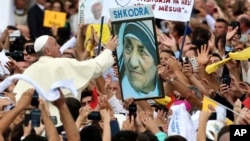
[[[116,133],[112,141],[136,141],[138,134],[134,131],[124,130]]]

